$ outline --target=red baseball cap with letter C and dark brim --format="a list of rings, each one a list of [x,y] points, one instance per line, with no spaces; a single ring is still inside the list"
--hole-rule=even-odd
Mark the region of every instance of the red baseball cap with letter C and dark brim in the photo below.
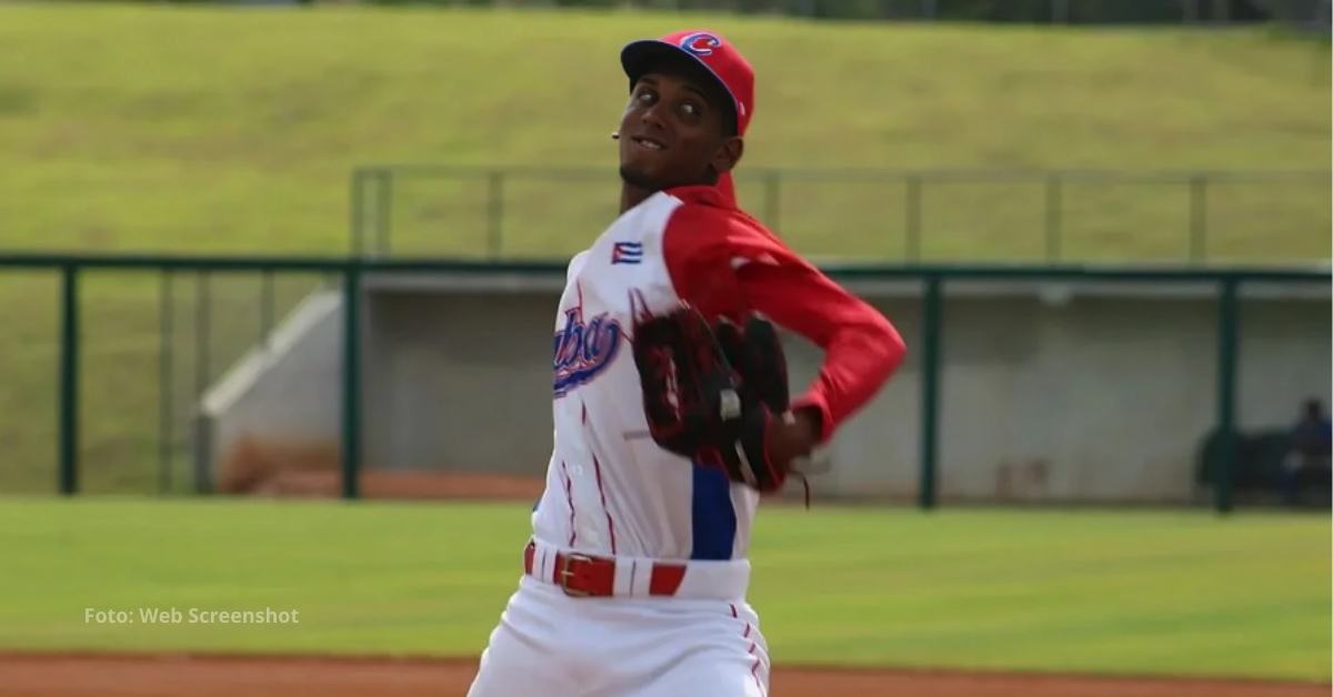
[[[661,39],[632,41],[620,51],[620,64],[629,76],[631,89],[659,60],[681,57],[702,65],[730,95],[736,107],[736,135],[744,136],[754,115],[754,69],[720,33],[685,29]]]

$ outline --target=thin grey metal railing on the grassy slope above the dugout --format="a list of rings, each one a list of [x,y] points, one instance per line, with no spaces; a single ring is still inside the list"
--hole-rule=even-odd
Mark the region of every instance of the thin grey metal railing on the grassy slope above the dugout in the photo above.
[[[737,172],[741,205],[798,251],[909,264],[1322,260],[1330,184],[1328,171]],[[605,168],[364,167],[349,245],[377,259],[568,255],[615,219],[616,187]]]

